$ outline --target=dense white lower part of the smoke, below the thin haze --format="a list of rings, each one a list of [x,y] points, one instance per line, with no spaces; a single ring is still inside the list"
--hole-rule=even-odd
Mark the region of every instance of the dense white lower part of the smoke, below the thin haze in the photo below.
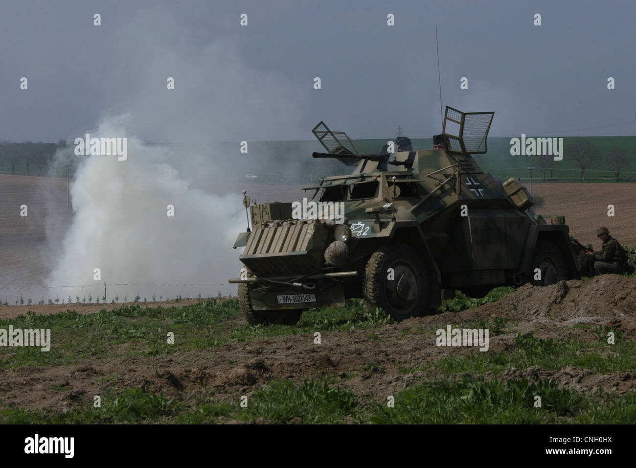
[[[103,294],[108,301],[135,295],[175,297],[230,291],[228,275],[239,270],[235,236],[244,229],[241,196],[215,195],[194,188],[165,160],[177,160],[172,148],[142,145],[127,135],[127,118],[109,118],[90,132],[95,138],[128,138],[128,157],[86,157],[71,186],[74,218],[48,283],[95,285],[64,290],[71,297]],[[174,206],[174,216],[169,216]],[[95,280],[95,269],[100,280]],[[136,286],[179,283],[178,287]],[[184,287],[184,284],[205,285]],[[86,292],[88,291],[88,293]]]

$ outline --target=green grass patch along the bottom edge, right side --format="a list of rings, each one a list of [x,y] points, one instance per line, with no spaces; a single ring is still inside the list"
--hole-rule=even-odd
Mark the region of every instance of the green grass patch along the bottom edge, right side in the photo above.
[[[536,408],[536,396],[541,408]],[[583,395],[541,379],[501,381],[466,376],[414,386],[396,396],[395,408],[377,405],[373,423],[632,423],[636,395]]]

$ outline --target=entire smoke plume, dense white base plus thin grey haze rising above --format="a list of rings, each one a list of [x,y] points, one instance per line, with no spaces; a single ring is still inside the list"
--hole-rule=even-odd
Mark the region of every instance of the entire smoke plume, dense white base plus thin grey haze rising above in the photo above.
[[[302,95],[277,73],[252,69],[239,41],[227,35],[192,50],[187,34],[175,42],[153,32],[179,29],[174,21],[153,13],[121,29],[116,53],[135,73],[106,69],[103,95],[113,99],[104,103],[106,117],[69,138],[127,138],[128,155],[85,156],[78,167],[73,223],[47,283],[94,286],[66,288],[65,297],[94,300],[104,294],[104,281],[108,302],[236,292],[226,282],[240,269],[240,249],[232,244],[245,230],[242,187],[228,193],[216,185],[227,181],[227,171],[250,170],[242,167],[238,144],[228,154],[219,150],[227,145],[215,142],[280,138],[299,125]],[[261,163],[280,166],[277,155],[261,156]]]

